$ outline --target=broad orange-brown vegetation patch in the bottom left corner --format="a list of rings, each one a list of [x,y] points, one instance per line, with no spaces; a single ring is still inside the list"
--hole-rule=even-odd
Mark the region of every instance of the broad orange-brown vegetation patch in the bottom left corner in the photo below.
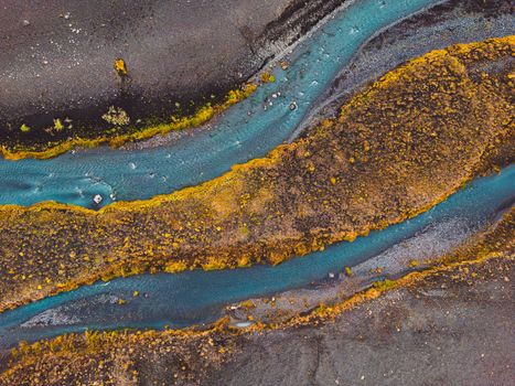
[[[191,385],[210,369],[218,368],[234,353],[234,337],[223,336],[222,331],[223,328],[217,325],[205,332],[87,331],[31,345],[22,342],[12,351],[13,360],[21,361],[20,364],[0,375],[0,385],[135,385],[138,379],[153,378],[141,366],[141,361],[147,360],[164,372],[164,384]],[[52,363],[52,368],[41,371],[37,356],[44,356],[46,363]],[[69,363],[74,365],[69,366]],[[28,367],[22,375],[20,371],[24,366]]]

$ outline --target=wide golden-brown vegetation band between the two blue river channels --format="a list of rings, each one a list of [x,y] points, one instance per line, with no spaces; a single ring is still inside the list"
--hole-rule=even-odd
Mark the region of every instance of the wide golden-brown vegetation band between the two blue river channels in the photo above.
[[[278,264],[415,216],[513,161],[515,37],[431,52],[305,138],[202,185],[93,212],[0,207],[0,310],[143,271]]]

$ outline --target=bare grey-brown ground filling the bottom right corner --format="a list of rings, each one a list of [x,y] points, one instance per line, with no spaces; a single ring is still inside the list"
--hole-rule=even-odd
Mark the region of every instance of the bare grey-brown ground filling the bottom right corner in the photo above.
[[[514,261],[457,274],[387,292],[334,323],[245,336],[201,384],[511,385]]]

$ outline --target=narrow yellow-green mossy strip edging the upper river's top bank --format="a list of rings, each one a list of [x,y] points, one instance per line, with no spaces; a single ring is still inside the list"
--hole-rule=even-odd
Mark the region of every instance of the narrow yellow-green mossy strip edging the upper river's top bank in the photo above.
[[[191,116],[185,117],[172,117],[169,124],[160,124],[155,126],[150,126],[141,130],[137,130],[130,133],[118,135],[115,132],[115,136],[99,136],[97,138],[81,138],[76,137],[69,140],[62,142],[49,142],[42,146],[42,149],[33,150],[25,147],[11,148],[9,146],[0,146],[0,154],[7,160],[21,160],[25,158],[33,159],[50,159],[57,157],[66,151],[69,151],[74,148],[96,148],[100,144],[107,143],[110,147],[117,148],[127,142],[140,141],[144,139],[152,138],[154,136],[164,136],[174,130],[184,130],[192,127],[199,127],[210,119],[212,119],[217,114],[226,110],[230,106],[246,99],[250,96],[258,86],[254,83],[248,83],[242,86],[239,89],[229,90],[225,97],[224,103],[218,105],[206,104],[197,109],[197,111]],[[60,121],[61,122],[61,121]],[[25,126],[25,125],[24,125]],[[30,130],[30,129],[29,129]],[[26,130],[26,131],[29,131]]]

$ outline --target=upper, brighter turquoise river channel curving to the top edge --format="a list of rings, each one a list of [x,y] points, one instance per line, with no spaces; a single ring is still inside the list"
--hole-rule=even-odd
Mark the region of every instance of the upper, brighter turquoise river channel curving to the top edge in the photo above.
[[[341,10],[289,55],[290,67],[223,114],[212,129],[191,130],[173,143],[122,151],[68,152],[51,160],[0,160],[0,204],[57,201],[90,206],[149,199],[211,180],[233,164],[265,156],[293,132],[355,51],[380,29],[437,0],[362,0]],[[290,103],[298,108],[290,110]]]

